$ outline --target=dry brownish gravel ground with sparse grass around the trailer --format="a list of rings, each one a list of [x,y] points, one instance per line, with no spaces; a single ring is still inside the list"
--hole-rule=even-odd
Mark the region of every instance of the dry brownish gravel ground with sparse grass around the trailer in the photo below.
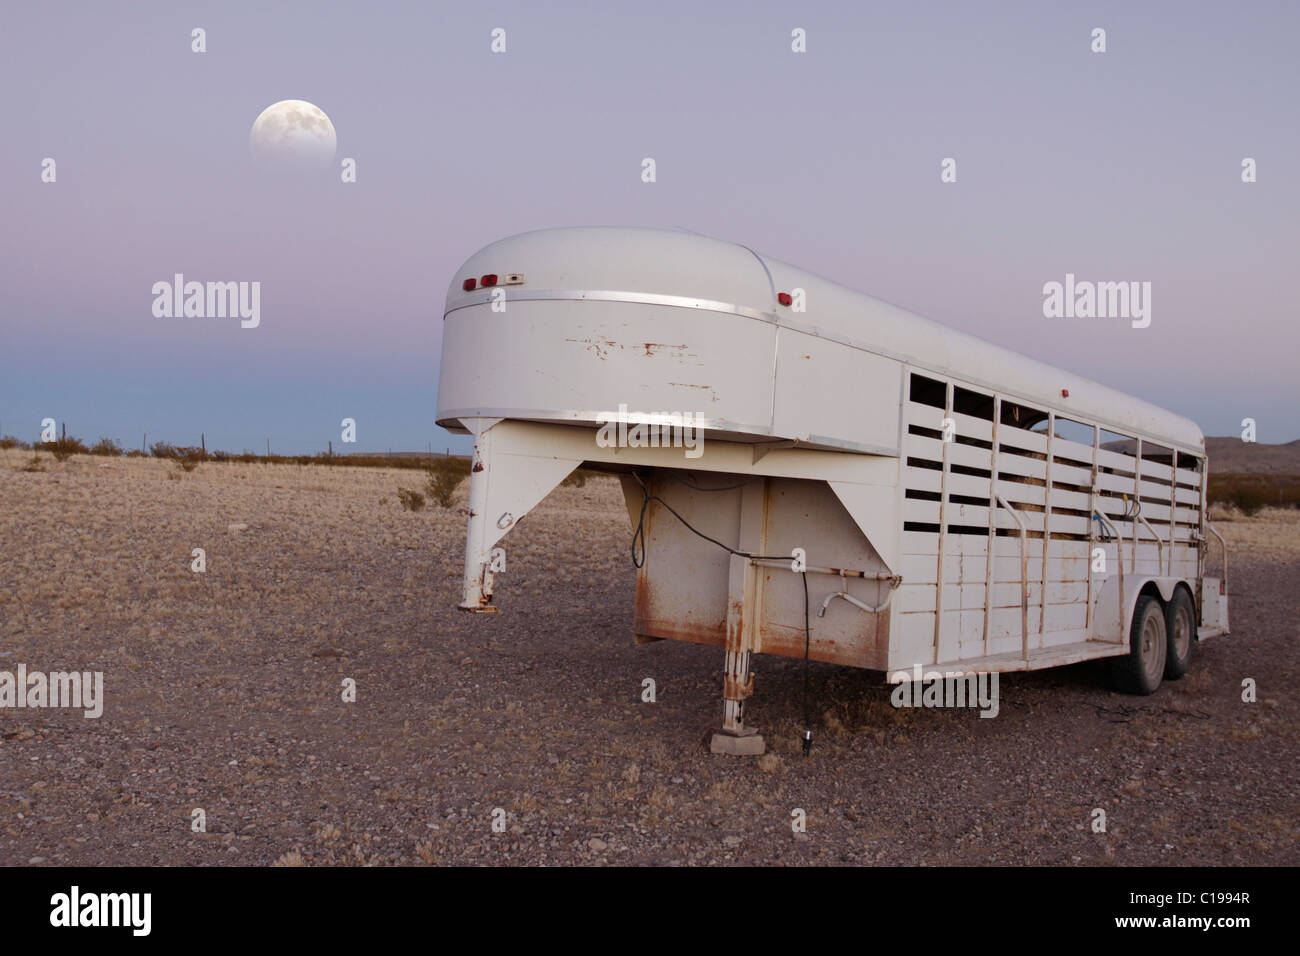
[[[1296,512],[1219,525],[1234,633],[1152,697],[1079,665],[980,719],[815,665],[803,758],[802,665],[760,657],[755,760],[703,744],[720,649],[633,643],[611,480],[525,518],[502,613],[464,615],[462,516],[394,498],[417,473],[42,459],[0,453],[0,670],[103,671],[105,708],[0,710],[0,864],[1300,861]]]

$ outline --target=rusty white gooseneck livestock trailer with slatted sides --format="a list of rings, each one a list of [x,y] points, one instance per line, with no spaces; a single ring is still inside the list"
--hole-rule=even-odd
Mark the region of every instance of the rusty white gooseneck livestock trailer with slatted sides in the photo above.
[[[485,247],[437,420],[474,437],[462,607],[493,609],[498,542],[569,472],[616,473],[636,636],[722,646],[737,737],[757,653],[894,682],[1105,657],[1150,693],[1227,632],[1192,421],[745,246]]]

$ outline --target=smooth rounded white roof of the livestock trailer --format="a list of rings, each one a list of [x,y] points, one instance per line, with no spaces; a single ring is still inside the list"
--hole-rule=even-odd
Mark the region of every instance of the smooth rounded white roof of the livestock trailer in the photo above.
[[[575,226],[512,235],[469,258],[452,280],[447,308],[464,297],[464,277],[488,272],[523,272],[530,289],[647,293],[728,303],[781,328],[900,359],[937,377],[997,390],[1062,418],[1095,421],[1110,431],[1204,454],[1201,429],[1182,415],[746,246],[697,233]],[[801,313],[776,304],[777,293],[796,287],[806,293],[806,311]]]

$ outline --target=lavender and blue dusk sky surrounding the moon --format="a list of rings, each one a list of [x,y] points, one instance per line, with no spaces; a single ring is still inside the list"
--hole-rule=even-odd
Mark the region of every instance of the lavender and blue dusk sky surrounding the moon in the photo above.
[[[532,229],[645,225],[745,243],[1206,434],[1251,418],[1262,442],[1300,437],[1297,4],[47,3],[0,20],[8,434],[53,418],[127,447],[202,433],[307,454],[339,450],[354,418],[358,450],[464,450],[434,424],[460,264]],[[282,99],[329,114],[356,182],[259,170],[248,131]],[[259,281],[260,325],[156,317],[152,286],[178,272]],[[1150,325],[1045,317],[1044,284],[1067,273],[1149,281]]]

